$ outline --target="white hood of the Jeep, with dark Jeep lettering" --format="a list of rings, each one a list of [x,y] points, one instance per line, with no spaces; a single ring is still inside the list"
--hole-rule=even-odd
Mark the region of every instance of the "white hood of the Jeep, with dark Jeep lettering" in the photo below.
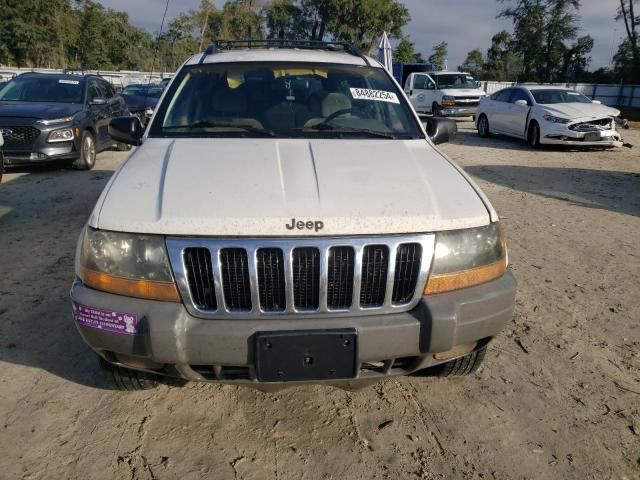
[[[89,221],[165,235],[331,236],[486,225],[489,206],[424,140],[147,139]],[[292,219],[324,228],[289,230]]]

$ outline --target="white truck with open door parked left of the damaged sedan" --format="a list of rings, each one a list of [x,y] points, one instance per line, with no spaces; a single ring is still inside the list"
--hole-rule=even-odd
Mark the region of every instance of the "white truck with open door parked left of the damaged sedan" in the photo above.
[[[404,91],[418,113],[444,117],[473,116],[486,96],[466,72],[412,73]]]

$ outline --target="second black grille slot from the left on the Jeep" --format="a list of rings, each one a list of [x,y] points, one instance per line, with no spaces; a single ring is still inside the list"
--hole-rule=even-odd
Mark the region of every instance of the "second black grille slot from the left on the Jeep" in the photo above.
[[[251,311],[251,286],[249,281],[249,259],[242,248],[220,250],[222,287],[227,309],[235,312]]]

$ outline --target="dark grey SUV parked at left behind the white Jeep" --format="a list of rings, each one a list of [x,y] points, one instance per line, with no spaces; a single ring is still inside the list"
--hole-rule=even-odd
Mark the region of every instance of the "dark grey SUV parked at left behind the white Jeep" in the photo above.
[[[5,164],[63,161],[91,169],[96,154],[117,144],[113,117],[128,114],[123,98],[95,75],[25,73],[0,90]]]

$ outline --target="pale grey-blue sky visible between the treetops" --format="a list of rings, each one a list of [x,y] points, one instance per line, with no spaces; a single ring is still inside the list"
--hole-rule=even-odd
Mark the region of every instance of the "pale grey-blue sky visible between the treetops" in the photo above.
[[[151,32],[159,30],[165,0],[100,0],[109,8],[125,11],[131,23]],[[511,31],[508,20],[496,19],[503,4],[496,0],[400,0],[411,14],[405,33],[425,57],[433,45],[445,41],[449,44],[449,69],[464,62],[467,52],[479,48],[486,52],[491,37],[500,30]],[[223,0],[215,0],[220,6]],[[506,1],[509,3],[509,0]],[[168,18],[197,8],[200,0],[170,0]],[[579,35],[591,35],[591,69],[608,66],[618,44],[622,41],[624,25],[615,21],[617,0],[582,0]]]

